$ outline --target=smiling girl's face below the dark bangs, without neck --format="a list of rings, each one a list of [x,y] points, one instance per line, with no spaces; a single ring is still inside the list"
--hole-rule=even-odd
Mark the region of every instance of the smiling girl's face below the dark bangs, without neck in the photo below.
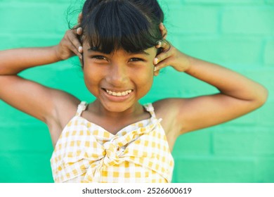
[[[110,54],[83,44],[84,81],[91,94],[110,112],[123,112],[148,93],[153,82],[157,49],[140,53],[118,49]]]

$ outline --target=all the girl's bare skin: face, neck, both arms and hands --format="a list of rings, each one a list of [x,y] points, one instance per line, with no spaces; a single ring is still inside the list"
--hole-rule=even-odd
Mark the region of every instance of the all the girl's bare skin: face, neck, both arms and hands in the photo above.
[[[164,41],[167,30],[162,24],[159,29]],[[65,91],[22,79],[18,72],[74,55],[84,63],[86,87],[97,98],[82,116],[112,134],[126,125],[150,117],[138,100],[149,91],[153,75],[159,75],[159,70],[164,67],[171,65],[178,72],[185,72],[216,87],[219,94],[166,98],[153,103],[156,116],[163,119],[161,124],[171,151],[179,135],[232,120],[266,102],[268,92],[261,84],[214,63],[188,56],[166,42],[148,49],[148,56],[129,54],[122,49],[107,55],[89,51],[85,43],[81,46],[76,37],[81,32],[81,29],[68,30],[56,46],[0,51],[0,84],[5,84],[0,86],[0,98],[45,122],[53,146],[67,122],[75,115],[80,101]],[[156,56],[156,48],[159,47],[164,50]],[[143,58],[145,61],[133,61],[133,58]],[[133,92],[129,99],[117,102],[108,98],[102,88],[116,91],[132,89]]]

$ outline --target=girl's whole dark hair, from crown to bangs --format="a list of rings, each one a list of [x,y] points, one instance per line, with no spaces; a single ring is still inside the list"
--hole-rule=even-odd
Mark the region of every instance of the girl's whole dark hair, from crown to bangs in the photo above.
[[[134,53],[162,40],[159,24],[164,13],[157,0],[87,0],[82,13],[81,40],[96,51]]]

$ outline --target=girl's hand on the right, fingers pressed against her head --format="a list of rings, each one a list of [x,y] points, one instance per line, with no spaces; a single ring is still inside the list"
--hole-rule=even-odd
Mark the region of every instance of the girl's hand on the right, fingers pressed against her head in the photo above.
[[[155,76],[159,75],[159,70],[171,65],[175,70],[185,72],[190,67],[190,56],[178,51],[174,46],[167,42],[167,29],[161,23],[159,29],[162,32],[163,39],[156,46],[157,49],[162,48],[162,52],[155,57]]]

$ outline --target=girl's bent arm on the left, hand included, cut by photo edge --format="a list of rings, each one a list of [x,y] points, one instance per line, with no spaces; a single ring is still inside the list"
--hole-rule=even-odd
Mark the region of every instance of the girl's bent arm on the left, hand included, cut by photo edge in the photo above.
[[[1,100],[44,122],[54,118],[58,100],[72,96],[22,79],[17,74],[27,68],[62,61],[74,53],[81,57],[77,46],[75,31],[68,30],[56,46],[0,51]]]

